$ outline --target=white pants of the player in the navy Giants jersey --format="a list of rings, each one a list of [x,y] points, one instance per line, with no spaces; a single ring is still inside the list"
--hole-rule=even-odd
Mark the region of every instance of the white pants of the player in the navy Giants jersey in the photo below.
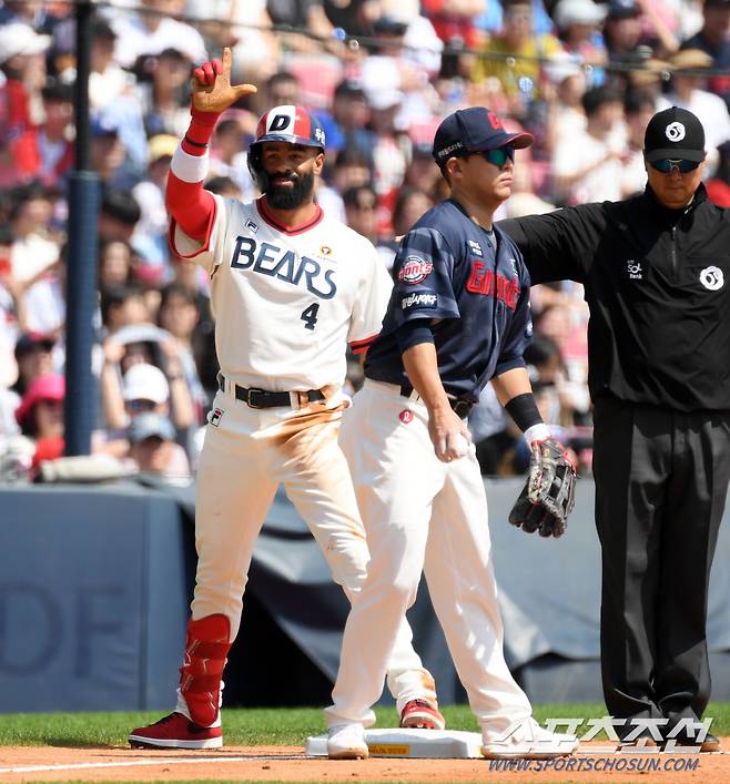
[[[405,410],[413,417],[402,418]],[[325,711],[331,726],[373,723],[371,705],[383,690],[388,656],[423,569],[485,735],[531,713],[503,654],[487,500],[474,448],[440,462],[427,422],[417,397],[404,398],[397,387],[371,380],[344,417],[339,442],[351,465],[371,563],[345,625],[334,704]]]

